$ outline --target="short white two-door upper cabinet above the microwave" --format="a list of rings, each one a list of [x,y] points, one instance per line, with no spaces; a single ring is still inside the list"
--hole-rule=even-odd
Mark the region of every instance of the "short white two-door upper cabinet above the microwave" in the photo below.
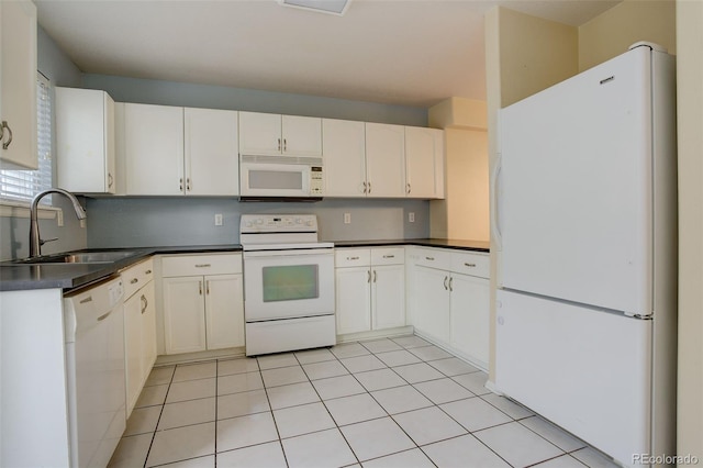
[[[239,112],[243,155],[322,156],[322,119]]]

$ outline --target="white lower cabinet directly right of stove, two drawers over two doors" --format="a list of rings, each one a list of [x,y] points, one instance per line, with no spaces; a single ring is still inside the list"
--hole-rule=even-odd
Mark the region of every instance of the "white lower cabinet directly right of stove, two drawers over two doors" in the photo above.
[[[405,326],[403,247],[335,252],[337,334]]]

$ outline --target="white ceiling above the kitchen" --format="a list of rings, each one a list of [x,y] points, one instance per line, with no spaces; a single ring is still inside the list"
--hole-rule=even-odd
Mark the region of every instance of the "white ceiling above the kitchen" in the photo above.
[[[483,14],[580,25],[621,0],[352,0],[343,16],[276,0],[35,0],[88,74],[427,108],[486,99]]]

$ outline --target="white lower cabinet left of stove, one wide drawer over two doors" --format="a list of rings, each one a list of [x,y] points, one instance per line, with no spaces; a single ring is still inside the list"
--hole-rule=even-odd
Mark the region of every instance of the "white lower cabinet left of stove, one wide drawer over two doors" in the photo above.
[[[166,354],[244,346],[242,254],[161,258]]]

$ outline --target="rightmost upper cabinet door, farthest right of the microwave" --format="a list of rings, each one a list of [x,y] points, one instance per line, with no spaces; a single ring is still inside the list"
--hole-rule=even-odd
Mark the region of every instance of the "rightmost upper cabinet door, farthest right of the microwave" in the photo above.
[[[444,132],[405,127],[405,181],[410,198],[442,198],[444,192]]]

